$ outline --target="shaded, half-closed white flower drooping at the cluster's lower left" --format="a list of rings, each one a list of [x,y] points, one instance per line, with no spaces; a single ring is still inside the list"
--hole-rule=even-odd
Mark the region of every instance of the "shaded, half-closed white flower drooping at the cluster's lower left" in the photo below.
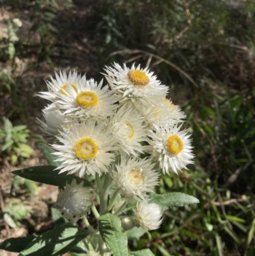
[[[85,188],[84,183],[77,184],[73,179],[71,184],[66,183],[64,190],[59,191],[55,207],[63,213],[65,218],[76,222],[82,216],[91,212],[93,194],[91,188]]]

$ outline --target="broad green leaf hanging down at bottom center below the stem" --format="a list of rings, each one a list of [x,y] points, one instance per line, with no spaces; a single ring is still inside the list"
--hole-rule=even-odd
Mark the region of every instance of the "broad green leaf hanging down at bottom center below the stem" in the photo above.
[[[118,216],[110,213],[100,216],[99,231],[114,256],[128,256],[128,237],[122,233]]]

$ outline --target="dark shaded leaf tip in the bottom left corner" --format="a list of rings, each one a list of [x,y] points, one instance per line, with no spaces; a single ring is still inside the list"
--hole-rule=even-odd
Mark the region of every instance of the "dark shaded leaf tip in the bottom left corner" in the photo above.
[[[0,243],[0,249],[8,252],[22,252],[36,236],[10,238]]]

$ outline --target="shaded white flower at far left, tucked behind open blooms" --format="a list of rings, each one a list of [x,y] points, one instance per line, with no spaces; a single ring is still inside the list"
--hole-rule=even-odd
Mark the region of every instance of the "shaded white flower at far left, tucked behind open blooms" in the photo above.
[[[40,123],[41,132],[48,137],[48,139],[53,139],[55,136],[59,136],[59,131],[63,131],[66,126],[68,126],[67,119],[62,115],[59,110],[48,111],[43,110],[43,117],[45,122],[38,119]]]

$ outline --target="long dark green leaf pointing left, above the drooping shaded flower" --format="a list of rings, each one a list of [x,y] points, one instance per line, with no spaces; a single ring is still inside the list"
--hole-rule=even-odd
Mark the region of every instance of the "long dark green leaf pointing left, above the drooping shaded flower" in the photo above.
[[[73,174],[67,175],[66,173],[59,174],[59,170],[54,170],[56,167],[51,165],[29,167],[21,170],[15,170],[12,173],[25,179],[31,179],[39,183],[50,184],[54,186],[64,187],[68,182],[71,184],[73,179],[76,179],[77,184],[84,182],[84,186],[92,186],[89,181],[77,177]]]

